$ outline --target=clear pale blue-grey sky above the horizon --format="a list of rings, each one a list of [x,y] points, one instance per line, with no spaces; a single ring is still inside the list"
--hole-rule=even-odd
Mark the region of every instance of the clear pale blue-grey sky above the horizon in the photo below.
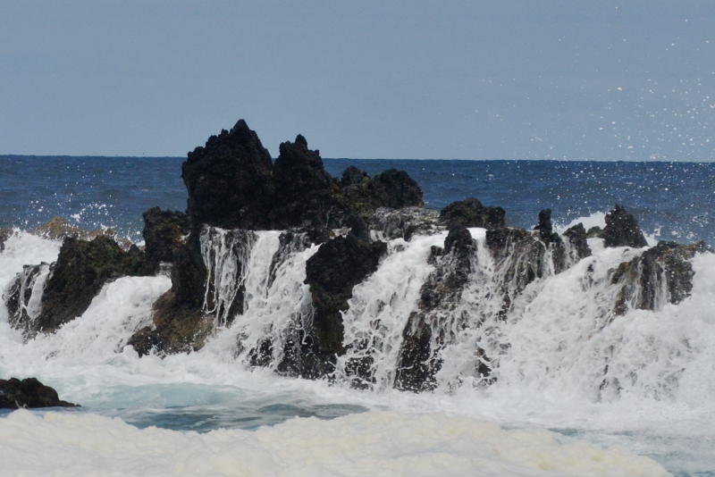
[[[715,160],[715,1],[0,1],[0,154]]]

